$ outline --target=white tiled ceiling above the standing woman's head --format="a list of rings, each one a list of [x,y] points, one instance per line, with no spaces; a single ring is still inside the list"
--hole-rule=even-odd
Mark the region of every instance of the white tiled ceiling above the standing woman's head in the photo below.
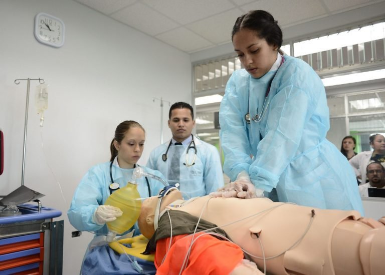
[[[237,17],[269,11],[287,28],[384,0],[74,0],[186,53],[230,43]]]

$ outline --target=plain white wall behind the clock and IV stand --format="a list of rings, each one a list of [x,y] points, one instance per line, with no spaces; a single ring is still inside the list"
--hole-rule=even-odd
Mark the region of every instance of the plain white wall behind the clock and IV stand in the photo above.
[[[65,23],[65,44],[56,49],[33,35],[35,15],[45,12]],[[27,82],[44,78],[49,108],[44,127],[34,107],[31,82],[25,185],[46,196],[43,205],[64,219],[64,274],[79,272],[91,234],[71,238],[67,218],[73,192],[93,165],[109,160],[114,130],[123,120],[146,129],[145,164],[160,143],[160,103],[190,102],[189,56],[72,0],[0,2],[0,128],[5,134],[5,165],[0,194],[21,185]],[[164,119],[168,104],[164,105]],[[166,121],[164,140],[170,137]]]

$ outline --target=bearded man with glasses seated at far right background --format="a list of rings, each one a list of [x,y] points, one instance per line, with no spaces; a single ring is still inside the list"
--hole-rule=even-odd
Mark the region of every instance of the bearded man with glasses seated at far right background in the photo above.
[[[367,188],[382,188],[385,189],[385,168],[380,162],[371,162],[366,167],[366,175],[369,182],[363,183],[359,188],[361,197],[368,197]]]

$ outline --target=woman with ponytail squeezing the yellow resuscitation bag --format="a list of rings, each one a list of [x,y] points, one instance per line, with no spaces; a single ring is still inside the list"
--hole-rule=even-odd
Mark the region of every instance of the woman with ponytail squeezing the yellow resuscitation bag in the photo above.
[[[143,153],[144,141],[145,132],[139,123],[132,120],[120,123],[116,127],[115,136],[110,145],[110,161],[95,165],[88,170],[76,188],[71,207],[67,212],[70,223],[77,230],[93,231],[95,233],[95,237],[86,251],[85,258],[87,258],[90,248],[97,246],[101,242],[101,237],[105,237],[107,234],[106,222],[113,221],[116,217],[122,215],[119,208],[104,205],[104,203],[113,191],[126,186],[128,181],[131,180],[134,168],[137,166],[136,163]],[[159,171],[144,166],[141,167],[146,173],[164,179]],[[157,195],[163,188],[161,182],[147,177],[136,179],[136,183],[141,197]],[[139,234],[137,224],[133,227],[127,228],[127,232],[135,229],[134,234]],[[108,245],[104,247],[109,249]],[[108,251],[104,252],[108,253]],[[82,274],[93,274],[98,268],[102,268],[103,261],[95,259],[90,261],[98,264],[95,266],[84,266],[82,264]],[[115,262],[115,264],[118,266],[119,263]]]

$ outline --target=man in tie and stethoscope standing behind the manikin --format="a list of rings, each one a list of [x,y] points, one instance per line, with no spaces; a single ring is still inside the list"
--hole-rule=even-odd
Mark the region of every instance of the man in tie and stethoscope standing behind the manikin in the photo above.
[[[185,102],[171,105],[168,113],[171,140],[152,150],[147,167],[159,170],[169,184],[180,184],[184,198],[204,196],[224,185],[217,148],[191,134],[194,110]]]

